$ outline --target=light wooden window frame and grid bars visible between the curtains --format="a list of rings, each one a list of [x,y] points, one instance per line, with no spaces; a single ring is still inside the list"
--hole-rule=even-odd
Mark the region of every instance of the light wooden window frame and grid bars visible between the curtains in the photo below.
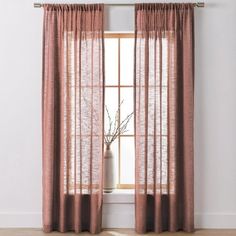
[[[105,85],[106,88],[118,88],[118,105],[120,104],[120,89],[121,88],[133,88],[134,89],[134,84],[133,85],[121,85],[120,84],[120,39],[122,38],[134,38],[134,33],[104,33],[104,38],[115,38],[118,39],[118,85]],[[120,123],[120,112],[119,112],[119,117],[118,121]],[[134,184],[122,184],[120,182],[121,180],[121,142],[120,138],[121,137],[134,137],[134,134],[122,134],[118,136],[118,183],[116,188],[117,189],[134,189],[135,185]]]

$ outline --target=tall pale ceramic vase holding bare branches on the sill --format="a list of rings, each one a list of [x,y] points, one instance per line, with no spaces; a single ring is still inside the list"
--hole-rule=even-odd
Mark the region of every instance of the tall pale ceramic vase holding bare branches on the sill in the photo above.
[[[115,170],[114,170],[114,156],[110,145],[106,145],[104,152],[104,175],[103,188],[105,193],[111,193],[115,189]]]

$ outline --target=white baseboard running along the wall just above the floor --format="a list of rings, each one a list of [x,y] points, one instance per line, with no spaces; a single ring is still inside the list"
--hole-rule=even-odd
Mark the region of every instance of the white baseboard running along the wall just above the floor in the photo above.
[[[41,212],[2,212],[0,228],[41,228]],[[104,228],[134,228],[133,212],[103,214]],[[236,213],[196,213],[197,229],[236,229]]]

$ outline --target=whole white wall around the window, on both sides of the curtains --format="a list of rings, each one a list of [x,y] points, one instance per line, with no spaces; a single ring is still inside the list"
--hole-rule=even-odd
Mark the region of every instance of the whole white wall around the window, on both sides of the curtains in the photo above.
[[[236,228],[236,1],[205,2],[195,21],[196,227]],[[40,227],[43,10],[0,6],[0,227]],[[133,30],[132,7],[107,13],[107,29]]]

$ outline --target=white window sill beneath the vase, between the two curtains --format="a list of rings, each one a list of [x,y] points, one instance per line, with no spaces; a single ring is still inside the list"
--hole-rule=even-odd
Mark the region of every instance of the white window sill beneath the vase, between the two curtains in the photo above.
[[[134,189],[115,189],[112,193],[103,194],[105,204],[134,204]]]

